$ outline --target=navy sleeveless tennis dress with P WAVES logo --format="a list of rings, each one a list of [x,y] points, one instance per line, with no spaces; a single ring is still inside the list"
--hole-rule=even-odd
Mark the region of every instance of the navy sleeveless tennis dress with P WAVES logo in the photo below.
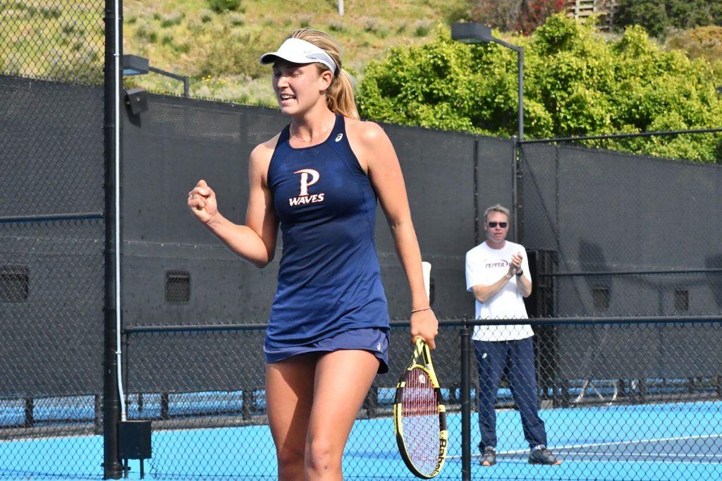
[[[305,352],[367,350],[388,371],[388,306],[374,247],[376,195],[349,146],[344,117],[312,147],[286,126],[268,183],[283,236],[266,363]]]

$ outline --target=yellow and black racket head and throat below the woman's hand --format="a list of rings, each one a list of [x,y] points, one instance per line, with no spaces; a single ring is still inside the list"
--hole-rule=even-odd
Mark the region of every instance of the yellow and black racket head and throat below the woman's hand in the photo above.
[[[420,339],[396,385],[393,426],[399,454],[409,471],[422,479],[438,475],[448,442],[446,410],[429,347]]]

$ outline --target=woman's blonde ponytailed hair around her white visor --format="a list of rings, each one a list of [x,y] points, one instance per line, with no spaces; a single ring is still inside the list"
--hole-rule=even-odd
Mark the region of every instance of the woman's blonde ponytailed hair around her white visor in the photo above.
[[[341,66],[341,45],[334,40],[331,35],[321,30],[313,30],[312,28],[300,28],[295,30],[289,38],[300,38],[308,43],[313,43],[318,48],[331,56],[336,63],[336,71],[332,71],[334,79],[331,80],[331,86],[326,91],[326,105],[329,110],[334,113],[340,113],[342,116],[349,118],[359,118],[356,109],[356,100],[354,98],[354,83],[351,75],[342,69]],[[330,70],[328,66],[316,64],[318,72]]]

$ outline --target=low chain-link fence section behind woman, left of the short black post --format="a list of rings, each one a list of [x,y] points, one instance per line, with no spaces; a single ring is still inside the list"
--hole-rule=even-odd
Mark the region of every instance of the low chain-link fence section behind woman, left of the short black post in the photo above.
[[[276,479],[264,392],[264,326],[126,332],[129,418],[153,422],[151,475]],[[359,412],[344,452],[344,478],[413,477],[399,457],[391,419],[396,382],[411,358],[409,338],[408,329],[392,331],[390,371],[377,376]],[[435,353],[435,367],[446,383],[450,440],[460,459],[458,332],[443,329],[438,342],[444,348]],[[458,479],[456,464],[442,477]]]

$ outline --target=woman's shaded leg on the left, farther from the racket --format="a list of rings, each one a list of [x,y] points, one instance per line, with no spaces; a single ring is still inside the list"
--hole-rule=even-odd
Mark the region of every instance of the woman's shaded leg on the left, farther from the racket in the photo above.
[[[266,407],[280,481],[305,480],[303,459],[316,360],[318,354],[305,354],[266,364]]]

